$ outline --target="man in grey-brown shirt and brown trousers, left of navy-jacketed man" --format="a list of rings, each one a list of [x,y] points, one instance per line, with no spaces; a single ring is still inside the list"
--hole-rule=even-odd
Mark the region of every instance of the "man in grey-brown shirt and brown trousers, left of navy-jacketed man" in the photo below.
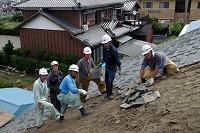
[[[93,78],[92,74],[90,73],[92,68],[95,68],[94,61],[91,58],[92,51],[89,47],[85,47],[83,49],[84,57],[78,61],[78,67],[79,67],[79,81],[82,84],[83,90],[86,92],[88,91],[88,86],[90,81],[94,81],[101,94],[106,93],[106,86],[105,84],[101,83],[100,78]],[[82,102],[86,100],[85,95],[80,95],[80,99]]]

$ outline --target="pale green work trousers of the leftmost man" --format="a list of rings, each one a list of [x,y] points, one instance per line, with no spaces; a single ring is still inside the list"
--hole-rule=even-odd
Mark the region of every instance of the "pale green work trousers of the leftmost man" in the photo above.
[[[58,110],[53,106],[53,104],[46,102],[46,101],[42,101],[42,106],[43,109],[39,109],[37,107],[37,114],[36,114],[36,126],[37,127],[41,127],[42,126],[42,117],[44,114],[44,108],[48,109],[51,111],[51,114],[53,115],[53,117],[58,120],[60,118],[60,113],[58,112]]]

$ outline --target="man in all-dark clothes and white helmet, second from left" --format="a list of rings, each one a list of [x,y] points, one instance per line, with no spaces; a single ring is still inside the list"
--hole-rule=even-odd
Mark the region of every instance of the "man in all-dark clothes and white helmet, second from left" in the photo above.
[[[58,70],[58,62],[51,62],[52,71],[49,73],[47,78],[47,85],[50,88],[50,100],[54,107],[60,112],[61,104],[57,99],[57,95],[60,93],[60,83],[62,82],[64,75]]]

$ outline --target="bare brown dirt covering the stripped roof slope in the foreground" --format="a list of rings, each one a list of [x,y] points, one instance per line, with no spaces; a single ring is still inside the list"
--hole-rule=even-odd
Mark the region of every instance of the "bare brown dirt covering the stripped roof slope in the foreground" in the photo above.
[[[107,101],[100,95],[84,103],[93,111],[90,116],[81,118],[78,108],[71,107],[64,123],[49,119],[41,129],[24,133],[200,133],[200,63],[156,79],[151,89],[161,97],[148,104],[120,109],[123,99]]]

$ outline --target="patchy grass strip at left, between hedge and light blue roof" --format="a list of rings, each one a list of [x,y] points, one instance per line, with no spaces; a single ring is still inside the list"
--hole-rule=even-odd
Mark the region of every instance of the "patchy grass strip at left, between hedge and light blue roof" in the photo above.
[[[37,78],[38,77],[36,77],[36,75],[28,74],[26,76],[22,76],[22,73],[0,72],[0,82],[30,91],[33,90],[33,83]]]

